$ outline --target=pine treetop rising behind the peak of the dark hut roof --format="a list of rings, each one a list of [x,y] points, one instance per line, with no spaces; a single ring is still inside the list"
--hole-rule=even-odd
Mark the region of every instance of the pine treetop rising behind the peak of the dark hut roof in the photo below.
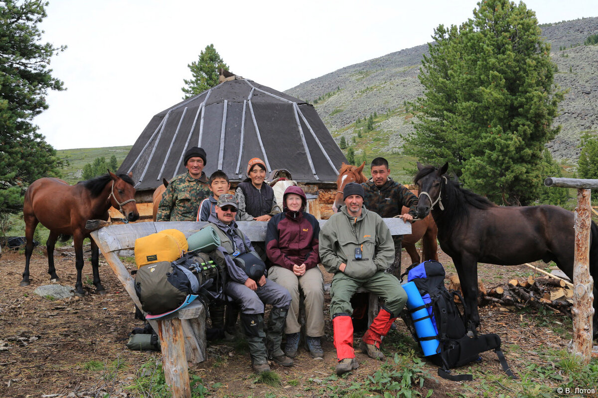
[[[227,69],[228,65],[224,63],[220,54],[216,51],[213,44],[206,46],[199,54],[199,59],[187,65],[191,70],[193,79],[183,79],[186,87],[181,88],[185,93],[184,98],[193,97],[201,94],[209,88],[215,87],[218,82],[218,69]]]

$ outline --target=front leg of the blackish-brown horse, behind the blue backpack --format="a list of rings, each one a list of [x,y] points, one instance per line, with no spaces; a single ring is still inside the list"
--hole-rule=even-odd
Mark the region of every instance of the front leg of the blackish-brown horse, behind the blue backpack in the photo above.
[[[478,263],[475,258],[460,258],[454,262],[454,267],[459,275],[461,291],[463,292],[463,309],[465,312],[465,325],[469,337],[475,335],[475,329],[480,326],[478,313]]]

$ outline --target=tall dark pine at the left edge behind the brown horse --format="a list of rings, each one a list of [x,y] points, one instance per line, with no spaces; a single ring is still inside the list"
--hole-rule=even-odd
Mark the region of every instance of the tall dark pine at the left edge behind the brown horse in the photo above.
[[[41,177],[59,177],[63,161],[33,118],[48,109],[48,90],[64,90],[48,67],[65,50],[42,43],[47,3],[0,2],[0,218],[23,210],[23,195]]]

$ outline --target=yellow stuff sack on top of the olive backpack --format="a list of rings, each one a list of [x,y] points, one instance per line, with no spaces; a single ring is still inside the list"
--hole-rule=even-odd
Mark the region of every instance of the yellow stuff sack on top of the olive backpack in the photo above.
[[[158,261],[172,262],[181,258],[183,251],[186,251],[188,247],[185,235],[178,230],[152,233],[152,235],[135,240],[135,263],[139,269]]]

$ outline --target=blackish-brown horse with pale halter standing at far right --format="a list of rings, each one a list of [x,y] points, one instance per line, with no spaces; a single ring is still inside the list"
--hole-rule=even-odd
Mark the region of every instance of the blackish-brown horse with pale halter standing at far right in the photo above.
[[[440,248],[453,259],[469,307],[468,329],[480,325],[478,262],[514,266],[554,261],[573,280],[575,230],[573,212],[558,206],[498,206],[463,189],[441,168],[417,163],[414,182],[421,190],[417,213],[432,213],[438,226]],[[591,224],[590,274],[594,279],[594,338],[598,337],[598,226]]]

